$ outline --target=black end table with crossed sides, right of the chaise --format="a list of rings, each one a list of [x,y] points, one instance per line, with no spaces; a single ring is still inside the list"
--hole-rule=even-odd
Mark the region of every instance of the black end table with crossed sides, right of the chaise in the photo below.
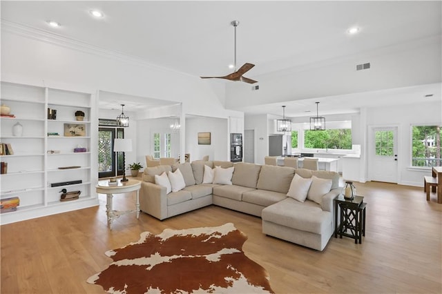
[[[345,199],[339,195],[334,199],[334,237],[343,236],[354,239],[355,244],[362,244],[365,236],[365,206],[364,197],[354,196],[354,199]],[[338,208],[340,208],[340,222],[338,226]]]

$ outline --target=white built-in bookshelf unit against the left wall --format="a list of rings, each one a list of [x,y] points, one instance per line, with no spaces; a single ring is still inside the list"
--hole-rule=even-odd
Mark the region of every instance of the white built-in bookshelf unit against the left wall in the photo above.
[[[8,163],[7,173],[0,176],[1,199],[20,199],[17,211],[1,214],[1,223],[97,205],[96,160],[91,152],[91,142],[96,140],[91,137],[95,95],[1,82],[1,104],[9,106],[14,115],[1,117],[0,141],[14,151],[0,157]],[[57,110],[56,119],[48,119],[48,108]],[[76,120],[77,110],[84,112],[84,121]],[[12,133],[17,122],[23,126],[19,137]],[[65,134],[69,128],[73,133]],[[86,152],[74,152],[75,148],[86,148]],[[66,168],[73,166],[78,168]],[[71,181],[81,183],[52,187]],[[63,188],[80,190],[79,199],[60,202]]]

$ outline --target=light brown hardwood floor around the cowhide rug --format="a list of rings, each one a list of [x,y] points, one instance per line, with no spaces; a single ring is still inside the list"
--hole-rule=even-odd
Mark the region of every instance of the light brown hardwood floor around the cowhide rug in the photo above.
[[[442,293],[442,204],[425,200],[423,188],[356,183],[367,202],[363,244],[332,237],[318,252],[267,237],[261,219],[209,206],[160,222],[142,213],[106,224],[100,206],[25,222],[1,230],[1,293],[104,293],[86,279],[104,270],[105,251],[137,241],[140,233],[164,228],[218,226],[232,222],[249,237],[244,252],[270,275],[276,293]],[[133,195],[115,196],[128,209]]]

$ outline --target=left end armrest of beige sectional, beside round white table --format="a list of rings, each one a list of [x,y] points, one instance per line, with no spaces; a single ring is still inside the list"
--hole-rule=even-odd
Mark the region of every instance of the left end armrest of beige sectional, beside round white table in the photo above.
[[[167,218],[166,187],[142,182],[140,188],[140,208],[157,219]]]

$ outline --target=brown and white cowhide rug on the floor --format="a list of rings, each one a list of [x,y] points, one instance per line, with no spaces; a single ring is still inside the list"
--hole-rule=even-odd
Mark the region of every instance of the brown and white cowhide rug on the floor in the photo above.
[[[113,262],[88,283],[108,293],[273,293],[265,268],[244,255],[246,239],[231,223],[144,232],[107,251]]]

